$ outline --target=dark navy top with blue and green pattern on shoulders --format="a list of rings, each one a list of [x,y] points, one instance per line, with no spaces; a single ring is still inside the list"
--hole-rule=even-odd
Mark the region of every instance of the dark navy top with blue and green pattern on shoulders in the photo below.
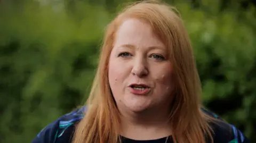
[[[42,129],[31,143],[71,143],[71,138],[75,130],[75,124],[83,119],[84,110],[85,107],[59,117],[59,119]],[[204,109],[202,110],[207,114],[221,120],[221,118],[214,113]],[[216,143],[249,143],[249,140],[243,135],[241,131],[234,127],[234,125],[220,122],[220,125],[212,124],[212,129],[214,130],[213,139]],[[132,140],[125,137],[121,137],[121,139],[123,143],[160,143],[166,141],[166,138],[146,141]],[[167,140],[167,142],[173,142],[171,137]]]

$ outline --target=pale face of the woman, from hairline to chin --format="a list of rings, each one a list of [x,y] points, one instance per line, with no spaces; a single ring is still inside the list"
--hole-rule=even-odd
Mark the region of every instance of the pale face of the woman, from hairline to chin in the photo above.
[[[119,110],[170,105],[172,63],[151,26],[127,19],[119,27],[109,59],[109,85]],[[159,111],[161,112],[161,111]]]

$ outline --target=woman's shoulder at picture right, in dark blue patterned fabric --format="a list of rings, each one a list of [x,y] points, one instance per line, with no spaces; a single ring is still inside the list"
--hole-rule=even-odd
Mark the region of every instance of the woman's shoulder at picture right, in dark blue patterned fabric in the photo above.
[[[202,109],[202,111],[216,119],[210,123],[213,130],[214,142],[249,143],[249,140],[244,136],[244,134],[233,124],[225,122],[220,116],[211,111],[205,109]]]

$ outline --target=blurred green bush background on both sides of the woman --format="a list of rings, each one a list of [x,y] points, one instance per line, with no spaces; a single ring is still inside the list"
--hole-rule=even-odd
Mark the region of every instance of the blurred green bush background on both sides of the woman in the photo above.
[[[30,142],[85,102],[103,30],[123,2],[0,1],[0,142]],[[170,3],[193,43],[204,105],[256,142],[255,6]]]

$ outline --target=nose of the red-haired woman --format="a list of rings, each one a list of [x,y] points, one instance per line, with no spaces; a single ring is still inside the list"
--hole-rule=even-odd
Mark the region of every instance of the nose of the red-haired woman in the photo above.
[[[148,75],[147,63],[143,59],[136,59],[133,63],[132,74],[138,77],[145,77]]]

